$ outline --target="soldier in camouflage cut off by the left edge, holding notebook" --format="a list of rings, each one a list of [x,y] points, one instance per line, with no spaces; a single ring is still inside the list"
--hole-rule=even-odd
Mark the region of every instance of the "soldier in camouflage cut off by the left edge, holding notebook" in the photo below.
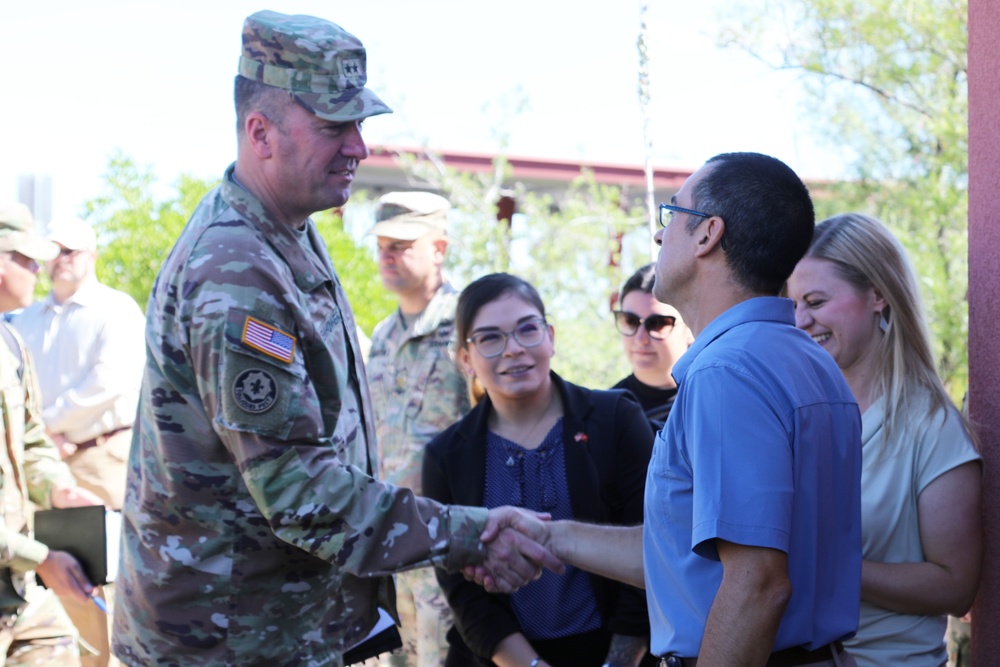
[[[59,248],[34,235],[23,204],[0,207],[0,311],[31,303],[40,261]],[[45,434],[38,384],[24,341],[0,322],[0,667],[79,666],[77,633],[56,593],[86,601],[93,592],[79,563],[50,551],[31,533],[32,503],[53,506],[100,504],[76,480]],[[35,581],[35,574],[49,590]]]

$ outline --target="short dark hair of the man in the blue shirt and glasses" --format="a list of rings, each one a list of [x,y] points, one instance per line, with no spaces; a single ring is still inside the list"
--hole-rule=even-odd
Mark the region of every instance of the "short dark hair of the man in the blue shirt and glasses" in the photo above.
[[[740,284],[778,294],[812,240],[809,189],[784,162],[760,153],[723,153],[705,164],[714,167],[695,186],[692,206],[725,221],[726,263]]]

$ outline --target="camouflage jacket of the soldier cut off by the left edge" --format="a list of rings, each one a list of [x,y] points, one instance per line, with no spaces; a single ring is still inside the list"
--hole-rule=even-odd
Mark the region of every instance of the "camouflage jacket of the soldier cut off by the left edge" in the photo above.
[[[7,324],[0,324],[6,327]],[[19,336],[20,359],[6,340],[0,339],[0,567],[8,568],[18,595],[0,590],[0,608],[9,609],[34,586],[29,574],[48,556],[49,549],[35,541],[29,529],[32,503],[51,507],[52,490],[74,486],[76,481],[45,435],[38,401],[38,383],[31,356]],[[22,371],[18,375],[18,366]]]

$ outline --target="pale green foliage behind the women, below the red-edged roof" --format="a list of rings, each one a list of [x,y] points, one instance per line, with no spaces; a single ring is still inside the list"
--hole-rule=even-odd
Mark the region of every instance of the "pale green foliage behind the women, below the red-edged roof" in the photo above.
[[[558,200],[511,184],[501,155],[489,173],[459,173],[435,156],[402,157],[416,179],[441,190],[456,209],[446,269],[459,288],[495,271],[532,283],[556,329],[553,368],[588,387],[611,386],[630,370],[614,328],[611,298],[649,262],[649,234],[641,206],[620,188],[583,172]],[[513,197],[512,219],[497,220],[497,201]]]

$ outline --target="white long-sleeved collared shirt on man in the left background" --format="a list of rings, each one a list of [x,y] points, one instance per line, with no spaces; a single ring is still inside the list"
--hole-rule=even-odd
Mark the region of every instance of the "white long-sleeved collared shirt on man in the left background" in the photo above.
[[[50,293],[14,316],[36,361],[49,431],[84,442],[135,421],[144,321],[135,299],[95,277],[61,304]]]

